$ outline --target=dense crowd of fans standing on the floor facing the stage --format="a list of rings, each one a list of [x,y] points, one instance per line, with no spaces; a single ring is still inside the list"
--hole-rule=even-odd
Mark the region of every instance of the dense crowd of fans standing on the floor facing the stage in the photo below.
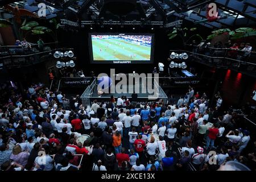
[[[135,93],[92,106],[43,85],[20,90],[7,83],[0,93],[4,171],[212,171],[228,161],[255,170],[252,129],[237,127],[236,111],[222,109],[219,92],[213,107],[191,87],[173,105],[139,107]]]

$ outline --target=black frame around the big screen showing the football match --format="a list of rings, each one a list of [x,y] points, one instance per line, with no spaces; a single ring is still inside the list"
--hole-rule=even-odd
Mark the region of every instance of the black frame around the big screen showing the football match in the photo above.
[[[106,61],[99,61],[99,60],[93,60],[93,46],[92,46],[92,35],[119,35],[119,34],[124,34],[124,35],[148,35],[151,36],[151,53],[150,53],[150,60],[149,61],[129,61],[129,60],[119,60],[119,61],[114,61],[114,60],[106,60]],[[155,34],[139,34],[139,33],[101,33],[101,32],[89,32],[88,33],[88,42],[89,42],[89,57],[90,57],[90,64],[152,64],[154,63],[154,50],[155,50]],[[114,63],[115,62],[115,63]]]

